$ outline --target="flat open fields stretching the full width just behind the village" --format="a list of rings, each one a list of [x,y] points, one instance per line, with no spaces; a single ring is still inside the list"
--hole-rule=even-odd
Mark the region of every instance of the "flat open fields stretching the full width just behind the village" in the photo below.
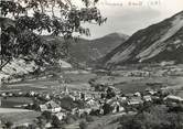
[[[62,75],[62,74],[61,74]],[[64,75],[69,82],[67,83],[68,89],[74,90],[85,90],[89,88],[88,80],[90,78],[97,78],[97,83],[104,85],[112,84],[116,88],[122,90],[122,93],[134,93],[142,92],[147,87],[151,88],[160,88],[164,86],[169,87],[182,87],[183,86],[183,77],[182,76],[164,76],[164,77],[138,77],[138,76],[129,76],[123,77],[119,76],[105,76],[105,75],[95,75],[92,73],[67,73]],[[157,85],[148,85],[148,84],[157,84]],[[3,90],[21,90],[21,92],[61,92],[65,85],[63,85],[57,79],[47,79],[40,78],[35,80],[25,80],[21,83],[10,84],[1,88],[0,92]]]

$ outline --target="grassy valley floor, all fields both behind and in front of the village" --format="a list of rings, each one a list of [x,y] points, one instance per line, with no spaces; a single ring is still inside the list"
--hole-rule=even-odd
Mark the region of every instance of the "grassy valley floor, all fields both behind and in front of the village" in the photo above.
[[[176,67],[175,67],[176,68]],[[120,94],[134,94],[134,93],[143,93],[147,88],[151,88],[154,90],[161,88],[170,88],[174,90],[174,95],[179,97],[183,97],[183,67],[179,68],[179,75],[175,75],[177,72],[175,68],[165,68],[165,67],[158,67],[151,69],[153,74],[147,74],[148,71],[146,69],[120,69],[120,71],[112,71],[110,75],[108,74],[96,74],[96,73],[77,73],[77,74],[66,74],[67,79],[69,82],[67,84],[62,84],[58,79],[53,78],[37,78],[37,79],[30,79],[19,83],[6,84],[0,87],[1,94],[1,107],[0,117],[1,119],[9,119],[11,118],[12,121],[17,121],[15,117],[19,118],[30,119],[36,118],[41,115],[41,111],[31,111],[23,108],[14,108],[14,106],[19,105],[29,105],[32,104],[33,99],[29,97],[24,97],[30,94],[31,92],[35,92],[39,95],[60,95],[65,90],[67,87],[68,92],[78,92],[78,93],[89,93],[89,94],[98,94],[100,92],[89,92],[90,84],[89,80],[94,79],[95,83],[99,86],[111,86],[116,88],[116,90],[120,92]],[[157,75],[157,73],[161,72]],[[173,71],[172,73],[170,71]],[[170,73],[168,73],[170,72]],[[171,75],[172,74],[172,75]],[[12,94],[11,96],[8,96]],[[23,97],[18,97],[13,95],[20,95]],[[33,97],[34,98],[34,97]],[[44,98],[44,96],[43,96]],[[56,98],[57,99],[57,98]],[[55,100],[55,99],[54,99]],[[30,115],[32,114],[32,115]],[[132,114],[132,112],[131,112]],[[118,112],[118,114],[109,114],[106,116],[94,116],[94,121],[87,123],[87,129],[116,129],[119,123],[116,120],[121,117],[122,115],[127,115],[127,112]],[[22,116],[22,117],[21,117]],[[65,126],[66,129],[79,129],[79,122],[83,119],[78,119],[72,123]],[[20,120],[21,121],[21,120]]]

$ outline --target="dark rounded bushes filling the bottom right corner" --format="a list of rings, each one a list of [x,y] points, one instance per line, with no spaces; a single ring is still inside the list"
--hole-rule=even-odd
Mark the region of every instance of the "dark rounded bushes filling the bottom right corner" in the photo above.
[[[149,107],[134,115],[120,119],[119,129],[183,129],[183,114],[169,112],[164,105]]]

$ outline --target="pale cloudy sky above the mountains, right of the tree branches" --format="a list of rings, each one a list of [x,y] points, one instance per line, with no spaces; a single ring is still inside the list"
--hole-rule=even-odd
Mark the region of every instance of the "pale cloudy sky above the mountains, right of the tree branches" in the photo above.
[[[84,24],[92,35],[82,37],[97,39],[114,32],[132,35],[183,11],[183,0],[99,0],[97,7],[107,22],[100,26]]]

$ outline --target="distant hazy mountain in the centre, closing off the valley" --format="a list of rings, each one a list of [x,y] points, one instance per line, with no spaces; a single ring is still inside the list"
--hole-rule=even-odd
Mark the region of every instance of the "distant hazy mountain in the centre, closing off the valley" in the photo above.
[[[62,43],[63,37],[44,36],[49,42]],[[89,65],[97,58],[104,57],[107,53],[125,42],[128,35],[120,33],[111,33],[100,39],[69,41],[71,63],[79,63]]]

